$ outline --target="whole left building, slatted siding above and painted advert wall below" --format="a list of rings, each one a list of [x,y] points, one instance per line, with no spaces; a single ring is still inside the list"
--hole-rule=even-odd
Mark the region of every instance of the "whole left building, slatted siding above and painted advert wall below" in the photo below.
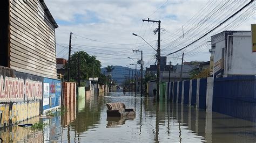
[[[0,1],[0,128],[60,106],[55,28],[43,0]]]

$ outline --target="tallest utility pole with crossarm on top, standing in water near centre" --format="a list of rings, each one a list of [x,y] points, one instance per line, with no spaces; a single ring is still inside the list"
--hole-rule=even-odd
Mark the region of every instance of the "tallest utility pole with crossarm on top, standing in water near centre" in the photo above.
[[[157,102],[159,102],[159,94],[160,94],[160,28],[161,28],[161,21],[158,20],[150,20],[149,18],[147,20],[143,19],[143,22],[153,22],[158,23],[158,45],[157,45]]]

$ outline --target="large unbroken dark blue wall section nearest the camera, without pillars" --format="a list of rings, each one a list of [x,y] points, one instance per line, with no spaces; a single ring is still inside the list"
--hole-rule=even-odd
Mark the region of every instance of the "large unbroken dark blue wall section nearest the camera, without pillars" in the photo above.
[[[256,78],[237,76],[214,80],[213,111],[256,121]]]

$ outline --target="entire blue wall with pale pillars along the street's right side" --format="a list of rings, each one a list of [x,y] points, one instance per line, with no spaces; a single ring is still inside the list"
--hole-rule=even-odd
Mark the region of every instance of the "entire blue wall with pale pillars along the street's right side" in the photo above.
[[[215,78],[214,84],[213,77],[208,77],[170,82],[167,86],[173,103],[256,121],[256,76]]]

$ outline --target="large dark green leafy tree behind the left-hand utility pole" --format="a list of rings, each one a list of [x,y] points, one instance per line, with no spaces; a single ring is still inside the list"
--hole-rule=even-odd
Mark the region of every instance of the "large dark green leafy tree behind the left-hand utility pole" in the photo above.
[[[80,80],[88,80],[89,77],[100,77],[100,67],[102,67],[96,56],[90,56],[86,52],[79,51],[71,55],[70,58],[70,81],[77,81],[78,61],[80,65]],[[65,66],[68,69],[68,65]],[[67,75],[65,76],[67,77]]]

